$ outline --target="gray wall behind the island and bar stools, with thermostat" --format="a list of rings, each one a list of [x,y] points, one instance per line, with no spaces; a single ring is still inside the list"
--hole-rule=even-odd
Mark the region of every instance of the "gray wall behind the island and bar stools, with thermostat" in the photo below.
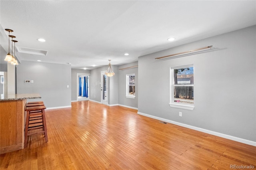
[[[16,69],[17,93],[39,93],[42,99],[33,100],[44,101],[46,108],[71,106],[71,65],[22,61]]]

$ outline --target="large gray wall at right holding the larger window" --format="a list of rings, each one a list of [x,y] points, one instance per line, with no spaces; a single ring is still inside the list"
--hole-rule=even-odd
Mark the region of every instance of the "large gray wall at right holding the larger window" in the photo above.
[[[208,45],[213,49],[154,59]],[[252,26],[139,57],[138,112],[256,141],[255,47]],[[169,106],[170,67],[186,64],[194,64],[193,111]]]

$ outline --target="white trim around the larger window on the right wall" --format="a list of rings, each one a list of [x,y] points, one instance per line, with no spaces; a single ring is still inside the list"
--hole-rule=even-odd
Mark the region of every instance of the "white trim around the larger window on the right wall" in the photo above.
[[[193,110],[194,104],[182,104],[182,103],[174,103],[174,81],[173,81],[173,73],[174,69],[180,69],[180,68],[186,68],[186,67],[194,67],[194,64],[187,64],[187,65],[179,65],[179,66],[173,66],[170,67],[170,107],[179,108],[179,109],[187,109],[187,110]],[[176,85],[176,86],[193,86],[193,85]]]

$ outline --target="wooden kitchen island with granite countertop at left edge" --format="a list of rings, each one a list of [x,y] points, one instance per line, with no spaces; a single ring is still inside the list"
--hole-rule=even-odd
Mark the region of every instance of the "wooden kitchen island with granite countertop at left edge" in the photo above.
[[[39,94],[11,94],[0,99],[0,154],[24,148],[25,105]]]

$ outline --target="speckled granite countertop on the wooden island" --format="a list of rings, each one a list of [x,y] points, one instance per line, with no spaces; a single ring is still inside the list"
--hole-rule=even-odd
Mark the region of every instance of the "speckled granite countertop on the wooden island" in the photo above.
[[[10,95],[1,95],[0,101],[8,100],[23,100],[23,99],[40,99],[41,96],[36,93],[31,94],[10,94]]]

